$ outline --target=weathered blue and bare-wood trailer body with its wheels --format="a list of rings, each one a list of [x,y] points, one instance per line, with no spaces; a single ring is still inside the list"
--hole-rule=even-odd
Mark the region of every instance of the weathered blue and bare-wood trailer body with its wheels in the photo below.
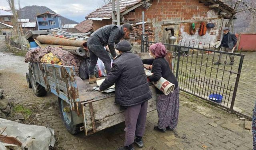
[[[139,55],[146,58],[148,53]],[[36,96],[47,92],[58,96],[62,120],[71,134],[84,130],[89,135],[124,121],[123,110],[114,105],[115,93],[93,90],[96,83],[76,76],[74,67],[35,62],[28,67],[28,86]],[[153,97],[148,101],[148,112],[156,109],[154,85],[150,84],[150,89]]]

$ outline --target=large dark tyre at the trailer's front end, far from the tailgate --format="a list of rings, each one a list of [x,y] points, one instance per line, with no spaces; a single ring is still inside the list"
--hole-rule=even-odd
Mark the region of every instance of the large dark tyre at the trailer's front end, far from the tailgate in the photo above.
[[[29,71],[29,77],[30,77],[30,83],[34,91],[34,94],[36,96],[45,96],[47,92],[44,86],[41,86],[39,83],[36,82],[36,80],[34,79],[32,70]]]

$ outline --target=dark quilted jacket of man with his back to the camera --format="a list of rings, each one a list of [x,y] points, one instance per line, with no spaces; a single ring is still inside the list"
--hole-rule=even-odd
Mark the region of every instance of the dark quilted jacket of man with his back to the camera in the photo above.
[[[100,85],[106,90],[115,84],[115,104],[133,106],[152,98],[141,58],[132,52],[124,52],[114,60],[110,73]]]

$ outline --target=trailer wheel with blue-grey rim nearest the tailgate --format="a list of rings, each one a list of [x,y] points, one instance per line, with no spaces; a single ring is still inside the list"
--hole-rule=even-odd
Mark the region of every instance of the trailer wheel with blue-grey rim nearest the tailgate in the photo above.
[[[66,103],[64,100],[62,100],[61,98],[58,97],[58,101],[59,101],[61,118],[68,132],[70,132],[70,134],[77,134],[81,132],[80,127],[83,126],[83,123],[76,124],[76,125],[73,123],[72,114],[76,112],[72,111],[70,109],[70,105]]]

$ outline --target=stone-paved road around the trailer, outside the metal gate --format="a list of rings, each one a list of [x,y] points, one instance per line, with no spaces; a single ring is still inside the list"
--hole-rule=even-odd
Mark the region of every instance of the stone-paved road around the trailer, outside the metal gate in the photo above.
[[[26,123],[49,126],[55,131],[59,150],[115,150],[124,142],[124,123],[90,136],[81,132],[71,135],[60,119],[57,97],[48,93],[36,97],[27,88],[26,69],[17,69],[22,57],[0,53],[0,86],[6,98],[14,104],[22,104],[32,110]],[[9,65],[8,67],[3,67]],[[27,64],[20,62],[20,68]],[[13,68],[13,69],[10,69]],[[147,116],[146,132],[143,137],[145,147],[141,150],[251,150],[252,135],[244,129],[244,121],[212,106],[206,105],[192,96],[180,94],[180,117],[174,132],[159,133],[153,130],[157,124],[157,112]],[[212,125],[210,125],[212,124]],[[62,147],[62,148],[60,148]],[[136,147],[136,150],[139,148]]]

